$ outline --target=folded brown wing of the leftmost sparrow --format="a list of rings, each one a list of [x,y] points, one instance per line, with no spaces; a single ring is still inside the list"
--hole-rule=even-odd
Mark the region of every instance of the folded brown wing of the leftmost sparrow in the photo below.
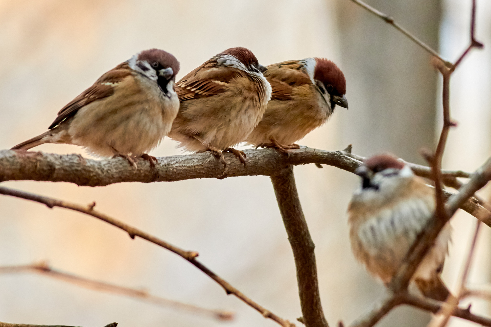
[[[131,70],[126,62],[119,64],[116,68],[105,73],[91,87],[61,108],[58,112],[58,117],[56,117],[55,121],[48,128],[54,128],[65,119],[72,117],[83,106],[93,101],[109,97],[114,93],[114,89],[110,84],[117,84],[128,75],[131,75]]]

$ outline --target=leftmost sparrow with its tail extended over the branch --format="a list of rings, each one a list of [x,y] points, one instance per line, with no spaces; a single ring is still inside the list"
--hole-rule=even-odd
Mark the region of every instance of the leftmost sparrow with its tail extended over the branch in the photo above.
[[[135,54],[65,105],[49,130],[12,149],[44,143],[79,145],[100,156],[121,156],[136,166],[145,152],[168,134],[179,110],[174,91],[179,62],[170,53],[151,49]]]

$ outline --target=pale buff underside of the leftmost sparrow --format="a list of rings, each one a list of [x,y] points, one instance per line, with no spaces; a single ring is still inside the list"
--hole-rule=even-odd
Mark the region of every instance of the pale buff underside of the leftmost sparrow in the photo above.
[[[99,156],[141,155],[168,134],[179,109],[172,93],[169,99],[154,81],[130,75],[115,86],[113,95],[89,103],[55,127],[59,132],[48,136],[49,141],[79,145]]]

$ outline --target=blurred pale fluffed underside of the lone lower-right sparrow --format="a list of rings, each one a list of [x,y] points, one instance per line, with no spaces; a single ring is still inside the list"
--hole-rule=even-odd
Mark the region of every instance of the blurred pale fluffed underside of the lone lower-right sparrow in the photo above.
[[[397,272],[435,208],[434,191],[420,178],[406,179],[399,186],[404,190],[387,190],[390,195],[386,194],[386,197],[379,194],[381,199],[377,204],[373,198],[370,201],[354,197],[349,208],[350,239],[355,257],[384,283],[388,283]],[[394,195],[399,196],[394,199]],[[451,227],[447,224],[413,279],[431,280],[436,277],[436,271],[448,252],[450,236]]]

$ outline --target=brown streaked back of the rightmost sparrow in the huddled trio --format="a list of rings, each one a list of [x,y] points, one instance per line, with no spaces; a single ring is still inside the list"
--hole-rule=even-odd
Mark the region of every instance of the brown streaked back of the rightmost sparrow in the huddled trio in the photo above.
[[[271,84],[272,100],[289,100],[294,86],[312,83],[298,60],[283,61],[267,68],[264,76]]]

